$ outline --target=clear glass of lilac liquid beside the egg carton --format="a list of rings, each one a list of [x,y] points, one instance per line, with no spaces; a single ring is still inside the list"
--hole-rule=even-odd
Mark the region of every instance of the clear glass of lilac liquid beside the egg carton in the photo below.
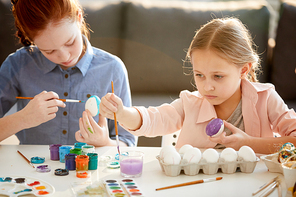
[[[144,153],[140,151],[128,151],[119,156],[120,175],[125,178],[135,178],[142,175]]]

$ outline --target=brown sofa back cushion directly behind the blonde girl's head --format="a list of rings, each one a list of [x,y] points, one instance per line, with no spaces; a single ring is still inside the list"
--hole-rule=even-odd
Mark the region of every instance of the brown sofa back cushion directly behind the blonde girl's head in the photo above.
[[[122,60],[129,72],[132,93],[178,93],[193,90],[192,76],[183,69],[185,50],[201,25],[212,18],[238,17],[249,28],[263,62],[270,13],[259,1],[186,2],[131,1],[125,15]]]

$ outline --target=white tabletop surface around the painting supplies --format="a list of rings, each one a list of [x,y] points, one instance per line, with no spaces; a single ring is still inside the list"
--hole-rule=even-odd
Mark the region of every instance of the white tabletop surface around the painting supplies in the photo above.
[[[259,161],[253,173],[236,172],[234,174],[223,174],[218,172],[215,175],[205,175],[199,173],[195,176],[187,176],[181,174],[177,177],[166,176],[160,168],[156,156],[159,154],[161,148],[155,147],[134,147],[134,148],[121,148],[121,151],[130,149],[136,149],[144,152],[144,167],[143,174],[139,178],[134,180],[138,183],[141,191],[147,197],[164,197],[164,196],[252,196],[252,192],[257,190],[261,185],[270,181],[275,176],[283,179],[283,175],[279,173],[268,172],[264,162]],[[19,150],[28,159],[34,156],[45,157],[45,163],[51,166],[52,171],[49,173],[36,172],[32,166],[30,166],[18,153]],[[117,153],[116,147],[102,147],[96,148],[96,152],[99,156],[102,155],[115,155]],[[64,163],[59,161],[51,161],[49,146],[46,145],[1,145],[0,146],[0,177],[9,176],[25,176],[35,177],[37,179],[49,182],[55,187],[56,192],[54,196],[74,196],[71,183],[83,182],[81,178],[76,177],[75,171],[70,171],[68,176],[60,177],[54,175],[54,170],[57,168],[65,168]],[[106,179],[123,179],[120,176],[118,169],[110,170],[106,167],[98,167],[98,170],[91,171],[92,175],[90,181]],[[212,178],[222,176],[220,181],[214,181],[209,183],[202,183],[191,186],[184,186],[179,188],[167,189],[156,191],[156,188],[175,185],[179,183]],[[284,181],[283,196],[286,194],[286,187]],[[259,195],[257,195],[259,196]],[[270,196],[278,196],[277,190],[275,190]]]

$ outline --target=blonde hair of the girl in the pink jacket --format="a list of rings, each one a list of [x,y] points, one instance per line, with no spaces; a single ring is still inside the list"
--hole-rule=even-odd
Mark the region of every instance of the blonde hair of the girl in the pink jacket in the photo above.
[[[191,60],[192,51],[195,49],[213,49],[237,66],[252,63],[247,79],[258,82],[260,59],[254,46],[249,31],[239,19],[217,18],[196,32],[186,54],[186,60]]]

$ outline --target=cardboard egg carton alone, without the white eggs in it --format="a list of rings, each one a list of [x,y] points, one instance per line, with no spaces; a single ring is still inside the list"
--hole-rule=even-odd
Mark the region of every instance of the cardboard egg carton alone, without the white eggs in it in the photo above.
[[[201,159],[199,163],[185,163],[181,160],[180,164],[166,164],[160,159],[160,156],[156,156],[159,161],[162,171],[167,176],[178,176],[181,171],[189,176],[197,175],[201,170],[204,174],[212,175],[216,174],[219,169],[225,174],[232,174],[240,168],[241,172],[252,173],[256,167],[257,162],[260,160],[256,157],[256,161],[244,161],[241,157],[238,157],[237,161],[225,162],[223,158],[219,158],[217,163],[207,163],[205,159]]]

